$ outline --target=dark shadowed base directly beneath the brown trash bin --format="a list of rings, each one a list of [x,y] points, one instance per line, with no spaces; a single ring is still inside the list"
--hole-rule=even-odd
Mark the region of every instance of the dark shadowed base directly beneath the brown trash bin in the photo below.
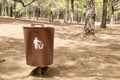
[[[48,66],[45,66],[45,67],[37,67],[35,68],[31,73],[30,75],[32,76],[44,76],[48,71]]]

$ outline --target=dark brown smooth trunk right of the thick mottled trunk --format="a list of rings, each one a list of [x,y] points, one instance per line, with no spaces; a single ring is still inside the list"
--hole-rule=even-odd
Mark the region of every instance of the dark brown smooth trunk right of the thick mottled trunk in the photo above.
[[[107,4],[108,4],[108,0],[103,0],[102,22],[101,22],[101,26],[100,26],[101,28],[106,28]]]

